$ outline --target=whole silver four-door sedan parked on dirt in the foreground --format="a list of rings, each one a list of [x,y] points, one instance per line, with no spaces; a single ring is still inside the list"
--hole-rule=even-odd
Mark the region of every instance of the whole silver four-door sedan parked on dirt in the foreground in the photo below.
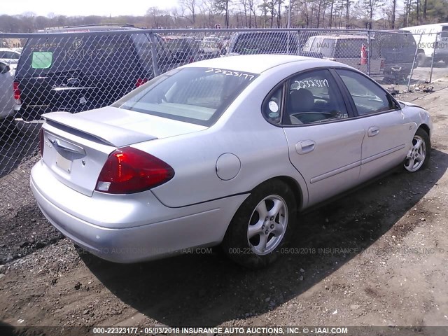
[[[344,64],[245,55],[188,64],[111,106],[45,114],[31,188],[48,221],[106,260],[221,244],[273,262],[318,204],[428,165],[432,123]]]

